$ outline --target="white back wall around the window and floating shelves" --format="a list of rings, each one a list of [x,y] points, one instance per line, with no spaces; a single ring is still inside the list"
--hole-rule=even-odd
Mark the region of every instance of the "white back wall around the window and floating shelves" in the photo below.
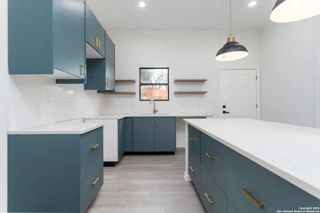
[[[136,95],[107,95],[105,113],[152,113],[153,105],[139,101],[139,67],[169,67],[169,101],[156,101],[158,113],[213,114],[219,117],[220,67],[258,67],[259,31],[236,31],[236,41],[249,56],[233,62],[218,62],[216,52],[226,43],[228,32],[218,31],[107,31],[115,44],[116,91]],[[205,83],[174,83],[174,79],[207,79]],[[174,95],[174,91],[207,91],[204,95]],[[177,147],[184,147],[184,123],[177,121]]]

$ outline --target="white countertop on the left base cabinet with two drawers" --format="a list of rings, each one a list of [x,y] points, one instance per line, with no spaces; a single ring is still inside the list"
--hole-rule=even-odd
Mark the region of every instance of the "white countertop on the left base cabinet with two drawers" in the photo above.
[[[25,134],[84,134],[103,126],[104,123],[68,123],[60,122],[50,125],[30,127],[25,129],[10,130],[8,135]]]

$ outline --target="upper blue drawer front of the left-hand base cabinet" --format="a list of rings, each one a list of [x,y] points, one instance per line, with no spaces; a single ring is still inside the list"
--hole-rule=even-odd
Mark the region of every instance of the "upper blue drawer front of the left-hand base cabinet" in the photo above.
[[[103,127],[81,136],[81,174],[103,155]]]

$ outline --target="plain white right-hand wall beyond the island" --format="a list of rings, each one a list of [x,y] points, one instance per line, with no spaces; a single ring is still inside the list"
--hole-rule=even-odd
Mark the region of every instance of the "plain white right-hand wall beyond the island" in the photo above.
[[[269,23],[261,30],[261,120],[315,126],[314,41],[319,32],[315,36],[312,28],[318,23],[309,18]]]

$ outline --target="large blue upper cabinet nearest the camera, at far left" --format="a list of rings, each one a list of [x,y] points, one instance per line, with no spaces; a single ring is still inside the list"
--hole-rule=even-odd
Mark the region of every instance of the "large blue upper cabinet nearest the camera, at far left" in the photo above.
[[[85,79],[83,0],[8,0],[9,74]]]

